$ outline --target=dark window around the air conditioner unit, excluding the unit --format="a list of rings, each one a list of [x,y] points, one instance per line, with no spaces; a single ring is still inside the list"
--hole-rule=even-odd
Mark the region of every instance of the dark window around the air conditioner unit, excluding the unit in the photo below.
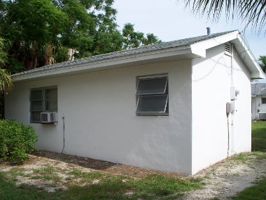
[[[31,122],[41,122],[41,113],[57,112],[57,87],[42,87],[31,90]]]

